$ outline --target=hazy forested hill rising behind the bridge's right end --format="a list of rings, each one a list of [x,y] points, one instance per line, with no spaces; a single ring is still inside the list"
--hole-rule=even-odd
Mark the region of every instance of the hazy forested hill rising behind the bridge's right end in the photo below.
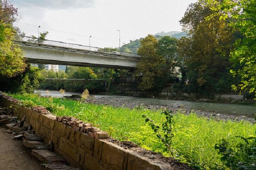
[[[182,36],[186,36],[185,32],[180,32],[180,31],[170,31],[170,32],[158,32],[157,34],[154,35],[154,37],[159,40],[162,36],[170,36],[174,38],[181,38]],[[136,39],[134,41],[130,40],[130,43],[125,44],[124,46],[121,47],[121,51],[128,52],[128,53],[137,53],[137,50],[140,47],[140,39]]]

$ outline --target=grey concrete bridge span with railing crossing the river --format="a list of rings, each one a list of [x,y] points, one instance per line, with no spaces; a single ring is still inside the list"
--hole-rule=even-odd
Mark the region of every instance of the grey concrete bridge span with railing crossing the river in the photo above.
[[[14,44],[25,51],[26,62],[115,69],[135,69],[138,54],[16,35]]]

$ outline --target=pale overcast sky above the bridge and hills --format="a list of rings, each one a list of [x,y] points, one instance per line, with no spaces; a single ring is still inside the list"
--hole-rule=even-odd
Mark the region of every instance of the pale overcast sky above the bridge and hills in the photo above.
[[[157,32],[181,31],[178,22],[197,0],[12,0],[18,26],[26,36],[49,31],[46,39],[94,47],[119,47],[120,42]]]

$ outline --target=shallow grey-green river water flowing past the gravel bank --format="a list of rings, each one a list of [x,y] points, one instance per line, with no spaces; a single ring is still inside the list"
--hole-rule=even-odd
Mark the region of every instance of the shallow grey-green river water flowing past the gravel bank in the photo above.
[[[41,96],[52,96],[52,97],[63,97],[71,96],[72,94],[81,94],[81,93],[71,93],[65,92],[61,94],[58,91],[49,91],[46,93],[45,90],[38,90]],[[246,104],[227,104],[227,103],[211,103],[203,101],[184,101],[184,100],[165,100],[157,98],[142,98],[142,97],[133,97],[133,96],[106,96],[106,95],[95,95],[95,99],[101,98],[104,100],[119,100],[119,101],[129,101],[138,104],[146,105],[160,105],[166,107],[184,107],[187,109],[194,109],[200,111],[208,111],[215,113],[224,113],[234,116],[246,116],[246,117],[255,117],[253,114],[256,114],[256,105],[246,105]]]

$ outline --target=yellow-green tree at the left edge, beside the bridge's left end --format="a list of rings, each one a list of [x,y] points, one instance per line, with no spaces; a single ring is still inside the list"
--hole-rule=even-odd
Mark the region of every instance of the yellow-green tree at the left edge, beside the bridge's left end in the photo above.
[[[8,0],[0,1],[0,75],[6,77],[14,77],[26,68],[22,50],[11,41],[15,34],[12,23],[17,16],[13,4]]]

